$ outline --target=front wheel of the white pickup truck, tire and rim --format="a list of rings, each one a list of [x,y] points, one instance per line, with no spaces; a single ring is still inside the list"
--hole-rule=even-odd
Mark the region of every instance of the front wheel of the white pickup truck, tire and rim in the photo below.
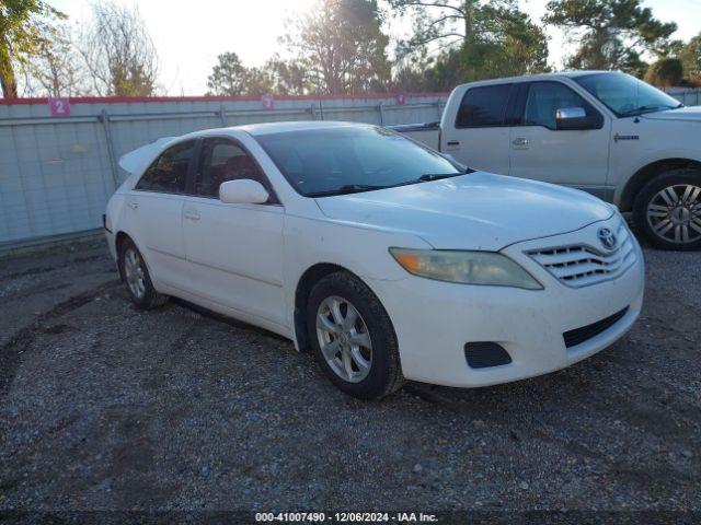
[[[673,170],[652,179],[635,198],[633,221],[657,248],[701,247],[701,171]]]

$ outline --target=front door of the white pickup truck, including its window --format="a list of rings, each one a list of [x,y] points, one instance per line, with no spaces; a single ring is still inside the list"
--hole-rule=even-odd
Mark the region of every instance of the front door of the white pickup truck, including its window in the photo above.
[[[510,128],[509,174],[572,186],[605,198],[610,119],[562,82],[533,81],[522,90],[522,112]],[[555,118],[559,112],[563,115],[562,109],[577,112],[596,124],[589,129],[562,129]]]

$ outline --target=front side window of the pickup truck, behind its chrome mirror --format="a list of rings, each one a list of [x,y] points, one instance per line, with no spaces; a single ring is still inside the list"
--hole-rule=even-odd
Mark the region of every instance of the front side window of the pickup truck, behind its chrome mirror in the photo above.
[[[560,82],[532,82],[528,90],[522,125],[556,129],[555,113],[565,107],[583,107],[588,117],[597,114],[588,102]]]

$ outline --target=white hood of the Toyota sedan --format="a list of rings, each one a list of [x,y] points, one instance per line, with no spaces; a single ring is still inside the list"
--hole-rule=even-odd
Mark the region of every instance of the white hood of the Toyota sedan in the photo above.
[[[438,249],[498,250],[613,213],[583,191],[484,172],[317,202],[332,220],[418,235]]]

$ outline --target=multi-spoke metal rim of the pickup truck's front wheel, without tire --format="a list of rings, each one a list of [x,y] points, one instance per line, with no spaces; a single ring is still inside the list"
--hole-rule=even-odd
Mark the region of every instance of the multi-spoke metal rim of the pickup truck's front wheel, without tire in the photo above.
[[[701,238],[701,187],[693,184],[667,186],[647,205],[647,223],[656,235],[675,244]]]

